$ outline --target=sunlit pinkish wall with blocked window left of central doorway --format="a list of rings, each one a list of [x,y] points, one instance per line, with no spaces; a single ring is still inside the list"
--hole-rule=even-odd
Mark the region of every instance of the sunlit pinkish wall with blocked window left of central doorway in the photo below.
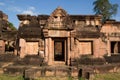
[[[44,57],[44,41],[39,39],[38,41],[26,41],[25,39],[20,39],[18,54],[21,58],[26,55],[41,55]]]

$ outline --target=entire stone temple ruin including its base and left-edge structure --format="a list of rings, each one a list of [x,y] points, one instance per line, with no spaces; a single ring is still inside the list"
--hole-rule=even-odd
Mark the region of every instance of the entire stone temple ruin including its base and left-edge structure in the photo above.
[[[33,74],[63,74],[60,71],[66,72],[67,75],[70,72],[71,75],[75,75],[86,72],[89,74],[88,71],[120,71],[120,64],[109,64],[120,63],[120,22],[107,20],[102,23],[101,15],[72,15],[60,7],[50,15],[19,14],[17,17],[20,20],[18,31],[12,31],[8,24],[8,16],[0,12],[0,61],[12,61],[12,66],[7,68],[0,62],[0,69],[3,68],[4,72],[19,72],[31,77]],[[12,55],[2,57],[7,51],[14,52],[12,54],[17,58]],[[40,67],[43,60],[39,56],[52,67]],[[74,64],[75,59],[84,56],[92,56],[92,59],[80,59],[80,62],[92,64],[91,66],[85,65],[82,69],[77,66],[77,70],[69,66]],[[95,60],[96,58],[98,60]],[[96,62],[99,62],[100,66],[93,66]],[[29,65],[37,65],[38,68],[30,68]],[[57,65],[65,67],[56,67]]]

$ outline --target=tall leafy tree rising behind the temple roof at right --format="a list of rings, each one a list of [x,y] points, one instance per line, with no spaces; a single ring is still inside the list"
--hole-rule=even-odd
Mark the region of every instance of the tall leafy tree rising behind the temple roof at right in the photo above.
[[[102,15],[103,22],[117,14],[118,4],[111,4],[109,0],[96,0],[93,2],[94,12]]]

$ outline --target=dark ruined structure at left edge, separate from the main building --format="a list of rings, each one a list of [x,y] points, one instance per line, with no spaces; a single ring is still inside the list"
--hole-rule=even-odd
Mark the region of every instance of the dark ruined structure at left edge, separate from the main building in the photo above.
[[[16,34],[17,31],[11,30],[8,16],[2,11],[0,11],[0,54],[5,53],[6,46],[13,47],[13,43],[16,39]]]

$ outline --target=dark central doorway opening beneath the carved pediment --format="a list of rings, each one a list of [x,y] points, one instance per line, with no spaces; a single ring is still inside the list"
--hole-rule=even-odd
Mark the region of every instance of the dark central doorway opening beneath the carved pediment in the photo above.
[[[65,61],[65,42],[64,40],[54,41],[54,60]]]

